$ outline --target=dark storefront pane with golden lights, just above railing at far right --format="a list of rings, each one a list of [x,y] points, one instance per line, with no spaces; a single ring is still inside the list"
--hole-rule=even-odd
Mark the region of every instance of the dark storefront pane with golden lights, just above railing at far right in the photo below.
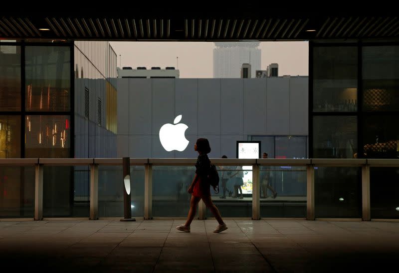
[[[363,120],[363,152],[367,158],[398,158],[398,117],[394,115],[365,116]]]

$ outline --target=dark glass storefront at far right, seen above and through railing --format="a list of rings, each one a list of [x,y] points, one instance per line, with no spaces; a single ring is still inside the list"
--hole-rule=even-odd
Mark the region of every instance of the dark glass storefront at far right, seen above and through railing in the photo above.
[[[398,159],[399,46],[312,44],[310,52],[310,157]],[[399,217],[397,177],[397,168],[371,168],[372,218]],[[359,169],[319,168],[316,217],[361,217],[361,189]]]

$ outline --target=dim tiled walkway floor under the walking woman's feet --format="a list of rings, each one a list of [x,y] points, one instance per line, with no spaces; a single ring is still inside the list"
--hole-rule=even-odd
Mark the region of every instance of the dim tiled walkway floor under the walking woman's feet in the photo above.
[[[399,222],[0,221],[0,265],[38,272],[397,271]]]

